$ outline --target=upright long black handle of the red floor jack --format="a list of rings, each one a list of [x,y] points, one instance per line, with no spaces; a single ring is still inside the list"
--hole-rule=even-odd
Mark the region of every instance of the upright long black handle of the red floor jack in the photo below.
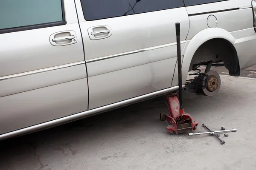
[[[181,73],[181,52],[180,52],[180,23],[176,23],[175,27],[176,27],[176,39],[177,39],[179,101],[180,101],[180,109],[182,110],[183,109],[183,100],[182,100],[182,73]]]

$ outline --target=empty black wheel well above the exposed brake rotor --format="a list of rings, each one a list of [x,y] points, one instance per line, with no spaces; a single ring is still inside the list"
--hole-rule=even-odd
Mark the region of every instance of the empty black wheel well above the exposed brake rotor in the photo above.
[[[236,48],[225,39],[215,38],[204,42],[195,51],[189,66],[189,71],[192,70],[193,66],[207,65],[209,61],[213,63],[222,62],[222,65],[229,70],[230,76],[240,75]]]

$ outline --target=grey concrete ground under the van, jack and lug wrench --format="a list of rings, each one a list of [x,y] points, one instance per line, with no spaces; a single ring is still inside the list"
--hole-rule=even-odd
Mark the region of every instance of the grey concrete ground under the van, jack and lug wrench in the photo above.
[[[158,97],[49,130],[0,142],[0,170],[255,170],[256,79],[221,76],[213,97],[184,95],[198,131],[214,136],[169,135]]]

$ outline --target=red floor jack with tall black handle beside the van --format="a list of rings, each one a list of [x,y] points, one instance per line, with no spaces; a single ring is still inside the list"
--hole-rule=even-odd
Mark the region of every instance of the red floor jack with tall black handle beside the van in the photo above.
[[[178,78],[179,78],[179,100],[177,93],[166,95],[166,104],[169,115],[160,113],[160,120],[167,120],[169,125],[166,127],[169,134],[184,133],[196,130],[198,122],[193,122],[189,113],[185,113],[182,100],[182,73],[181,73],[181,52],[180,52],[180,23],[176,23],[177,37],[177,61],[178,61]]]

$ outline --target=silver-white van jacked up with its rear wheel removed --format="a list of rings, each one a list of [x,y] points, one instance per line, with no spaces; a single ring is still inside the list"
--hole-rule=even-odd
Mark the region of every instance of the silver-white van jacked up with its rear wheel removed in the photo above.
[[[239,76],[255,18],[255,0],[1,0],[0,139],[176,91],[177,22],[184,85],[199,65]]]

